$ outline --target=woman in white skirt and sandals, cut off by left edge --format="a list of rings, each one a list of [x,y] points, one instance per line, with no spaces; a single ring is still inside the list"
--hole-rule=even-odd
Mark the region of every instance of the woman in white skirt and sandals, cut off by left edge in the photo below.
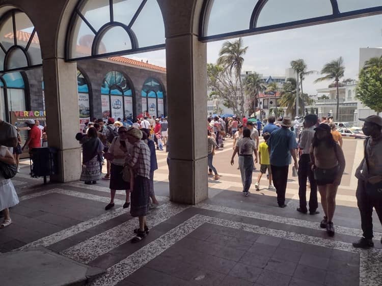
[[[0,161],[7,164],[15,164],[15,160],[7,147],[0,146]],[[3,211],[4,221],[0,228],[4,228],[12,223],[9,215],[9,208],[19,203],[15,187],[10,179],[5,179],[0,170],[0,211]]]

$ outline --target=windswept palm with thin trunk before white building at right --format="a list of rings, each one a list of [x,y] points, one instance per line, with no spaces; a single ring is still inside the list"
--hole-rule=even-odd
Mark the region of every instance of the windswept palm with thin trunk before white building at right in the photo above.
[[[343,59],[342,56],[340,56],[338,59],[333,60],[329,63],[326,63],[322,70],[321,74],[324,74],[324,76],[317,78],[314,82],[324,81],[324,80],[334,80],[336,83],[336,97],[337,97],[337,113],[336,113],[336,120],[339,118],[340,113],[340,95],[338,91],[338,82],[340,81],[340,78],[344,76],[345,73],[345,67],[343,65]]]

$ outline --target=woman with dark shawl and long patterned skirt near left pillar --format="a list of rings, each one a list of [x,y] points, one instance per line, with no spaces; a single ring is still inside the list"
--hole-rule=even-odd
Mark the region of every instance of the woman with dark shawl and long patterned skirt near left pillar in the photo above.
[[[80,180],[85,181],[87,185],[96,184],[101,179],[99,162],[102,160],[101,154],[104,148],[101,140],[98,138],[97,129],[90,127],[88,135],[83,136],[80,142],[83,148],[83,167]]]

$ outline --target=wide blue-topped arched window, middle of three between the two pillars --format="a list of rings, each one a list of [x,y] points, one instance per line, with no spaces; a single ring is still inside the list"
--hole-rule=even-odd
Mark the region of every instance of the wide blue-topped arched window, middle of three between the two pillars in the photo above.
[[[102,118],[133,118],[132,89],[127,77],[117,71],[108,72],[101,86]]]

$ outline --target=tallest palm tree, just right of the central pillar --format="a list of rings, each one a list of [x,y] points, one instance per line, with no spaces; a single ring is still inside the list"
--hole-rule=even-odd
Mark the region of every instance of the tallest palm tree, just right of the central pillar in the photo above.
[[[223,43],[219,52],[219,59],[217,64],[223,66],[229,70],[230,80],[235,81],[236,85],[239,83],[239,106],[241,110],[241,116],[244,115],[244,93],[243,84],[241,80],[241,69],[244,62],[244,54],[247,53],[248,46],[244,47],[243,40],[241,38],[236,41],[226,41]]]

